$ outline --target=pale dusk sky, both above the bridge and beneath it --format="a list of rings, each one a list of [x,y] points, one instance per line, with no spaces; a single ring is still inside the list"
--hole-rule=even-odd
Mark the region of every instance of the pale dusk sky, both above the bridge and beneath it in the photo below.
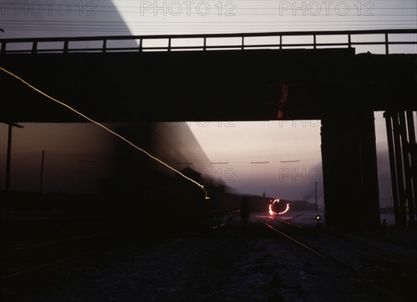
[[[157,3],[157,6],[155,6]],[[78,35],[154,35],[179,33],[240,33],[273,31],[321,31],[381,28],[416,28],[417,1],[0,1],[0,37],[58,37]],[[381,36],[373,39],[380,40]],[[409,39],[416,39],[408,37]],[[158,42],[154,42],[158,43]],[[161,43],[161,42],[159,42]],[[382,53],[383,47],[358,48]],[[417,52],[413,47],[396,47],[395,52]],[[380,174],[380,197],[391,197],[386,160],[386,133],[382,112],[375,113]],[[322,204],[320,121],[210,122],[186,123],[213,164],[212,178],[250,194],[313,201],[314,182],[318,182]],[[61,137],[45,138],[40,150],[24,146],[28,131],[14,129],[15,160],[36,158],[42,149],[58,153],[82,153],[76,159],[80,170],[95,165],[95,173],[106,174],[111,165],[91,158],[108,144],[108,133],[96,126],[83,132],[96,137],[71,137],[72,126],[26,127],[31,133]],[[26,131],[26,135],[23,134]],[[7,127],[0,127],[1,181],[4,175]],[[19,137],[22,135],[22,137]],[[29,135],[30,136],[30,135]],[[66,137],[66,138],[65,138]],[[36,136],[30,136],[36,140]],[[103,140],[101,140],[101,138]],[[81,149],[74,146],[81,146]],[[27,150],[26,150],[27,148]],[[78,150],[78,151],[76,151]],[[54,152],[49,153],[52,160]],[[19,153],[22,153],[19,158]],[[111,153],[107,153],[111,154]],[[26,159],[29,160],[29,159]],[[343,158],[341,158],[343,160]],[[95,163],[94,163],[95,162]],[[15,165],[15,163],[13,164]],[[37,165],[37,164],[33,164]],[[90,167],[90,166],[89,166]],[[64,169],[64,168],[63,168]],[[214,171],[214,172],[213,172]],[[288,171],[291,172],[288,175]],[[285,176],[285,177],[284,177]],[[33,176],[35,177],[35,176]],[[77,176],[78,177],[78,176]],[[3,188],[3,183],[1,183]],[[52,190],[52,188],[51,188]],[[56,190],[56,188],[54,188]]]

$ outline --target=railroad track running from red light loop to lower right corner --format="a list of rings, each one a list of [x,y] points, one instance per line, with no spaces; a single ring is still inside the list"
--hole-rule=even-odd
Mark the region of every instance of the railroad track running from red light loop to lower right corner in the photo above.
[[[399,254],[378,242],[327,228],[304,228],[274,218],[259,220],[305,251],[343,269],[350,278],[389,297],[390,301],[411,301],[409,297],[414,294],[411,276],[417,276],[412,252]]]

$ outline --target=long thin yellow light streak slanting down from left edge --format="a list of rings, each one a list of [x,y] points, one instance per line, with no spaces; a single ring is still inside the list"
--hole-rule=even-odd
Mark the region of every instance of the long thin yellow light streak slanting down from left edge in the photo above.
[[[14,78],[17,78],[17,80],[21,81],[22,83],[24,83],[25,85],[27,85],[28,87],[31,87],[31,89],[35,90],[35,92],[38,92],[40,94],[42,94],[44,97],[47,97],[48,99],[51,99],[52,101],[72,110],[73,112],[75,112],[77,115],[80,115],[81,117],[87,119],[88,121],[91,121],[92,123],[96,124],[97,126],[100,126],[101,128],[104,128],[104,130],[110,132],[111,134],[119,137],[120,139],[124,140],[124,142],[126,142],[127,144],[130,144],[131,146],[133,146],[133,148],[138,149],[139,151],[145,153],[147,156],[149,156],[149,158],[152,158],[153,160],[156,160],[157,162],[161,163],[162,165],[164,165],[165,167],[167,167],[168,169],[171,169],[174,172],[177,172],[179,175],[181,175],[183,178],[186,178],[188,181],[191,181],[192,183],[195,183],[195,185],[199,186],[203,191],[204,194],[206,195],[206,199],[210,199],[210,197],[208,197],[208,192],[206,191],[206,189],[204,189],[204,185],[201,185],[200,183],[197,183],[197,181],[194,181],[193,179],[185,176],[184,174],[182,174],[180,171],[178,171],[177,169],[175,169],[174,167],[171,167],[170,165],[167,165],[165,162],[163,162],[162,160],[152,156],[151,154],[149,154],[147,151],[145,151],[144,149],[141,149],[140,147],[136,146],[136,144],[133,144],[133,142],[130,142],[129,140],[127,140],[126,138],[122,137],[122,135],[115,133],[114,131],[112,131],[111,129],[107,128],[106,126],[104,126],[103,124],[100,124],[98,121],[95,121],[93,119],[91,119],[90,117],[83,115],[83,113],[75,110],[74,108],[72,108],[71,106],[67,105],[66,103],[63,103],[61,101],[58,101],[57,99],[54,99],[53,97],[50,97],[48,94],[42,92],[41,90],[38,90],[38,88],[32,86],[31,84],[27,83],[26,81],[24,81],[24,79],[20,78],[19,76],[17,76],[16,74],[13,74],[13,72],[9,72],[7,69],[4,69],[3,67],[0,67],[1,71],[6,72],[6,74],[9,74],[10,76],[13,76]]]

